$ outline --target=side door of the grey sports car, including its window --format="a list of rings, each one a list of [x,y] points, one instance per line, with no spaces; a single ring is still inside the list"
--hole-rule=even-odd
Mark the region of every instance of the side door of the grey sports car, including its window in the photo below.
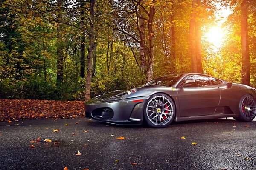
[[[183,82],[189,83],[182,84]],[[178,99],[181,117],[210,115],[215,112],[220,101],[221,91],[218,85],[212,85],[209,77],[190,74],[181,81],[179,87]]]

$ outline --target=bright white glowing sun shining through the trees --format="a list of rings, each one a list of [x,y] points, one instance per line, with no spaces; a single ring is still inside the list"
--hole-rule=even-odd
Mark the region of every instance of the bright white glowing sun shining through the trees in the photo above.
[[[224,41],[225,32],[223,28],[215,26],[209,29],[205,34],[206,40],[215,48],[221,47]]]

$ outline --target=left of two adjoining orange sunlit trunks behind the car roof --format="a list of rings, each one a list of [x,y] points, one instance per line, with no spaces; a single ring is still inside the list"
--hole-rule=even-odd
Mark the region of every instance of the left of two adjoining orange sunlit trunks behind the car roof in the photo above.
[[[195,3],[196,0],[192,0],[192,12],[191,12],[191,19],[189,24],[189,48],[190,48],[190,55],[191,55],[191,71],[197,72],[197,63],[196,63],[196,56],[195,56]]]

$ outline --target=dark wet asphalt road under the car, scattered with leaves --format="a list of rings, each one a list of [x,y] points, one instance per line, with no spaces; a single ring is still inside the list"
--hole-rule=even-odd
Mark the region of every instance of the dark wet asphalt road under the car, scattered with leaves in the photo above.
[[[256,121],[233,119],[175,122],[164,129],[86,118],[0,122],[0,170],[256,170],[255,136]],[[38,137],[52,142],[30,142]]]

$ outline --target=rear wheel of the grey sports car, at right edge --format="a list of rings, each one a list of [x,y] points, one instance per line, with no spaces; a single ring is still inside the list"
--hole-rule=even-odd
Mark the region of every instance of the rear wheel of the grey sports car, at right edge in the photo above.
[[[239,102],[239,116],[233,117],[235,120],[250,122],[256,116],[256,101],[253,96],[245,94]]]

